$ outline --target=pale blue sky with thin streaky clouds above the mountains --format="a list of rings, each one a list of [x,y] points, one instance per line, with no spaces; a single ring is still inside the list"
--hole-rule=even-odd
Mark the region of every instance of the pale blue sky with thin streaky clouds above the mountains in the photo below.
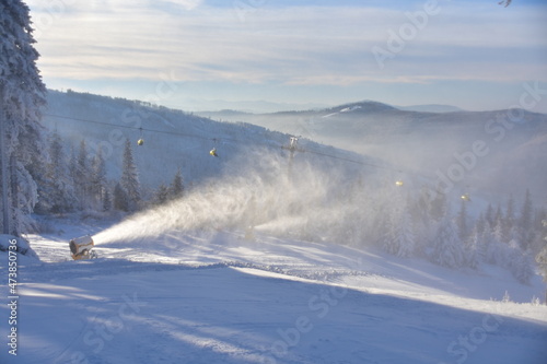
[[[519,106],[547,90],[547,3],[28,0],[48,87],[186,110],[218,99]],[[547,113],[547,91],[533,109]]]

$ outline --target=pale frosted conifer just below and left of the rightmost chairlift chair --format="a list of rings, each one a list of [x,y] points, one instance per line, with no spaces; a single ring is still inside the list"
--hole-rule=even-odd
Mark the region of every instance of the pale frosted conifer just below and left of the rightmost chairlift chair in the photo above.
[[[464,265],[464,250],[457,226],[449,213],[439,225],[431,259],[439,266],[458,268]]]

